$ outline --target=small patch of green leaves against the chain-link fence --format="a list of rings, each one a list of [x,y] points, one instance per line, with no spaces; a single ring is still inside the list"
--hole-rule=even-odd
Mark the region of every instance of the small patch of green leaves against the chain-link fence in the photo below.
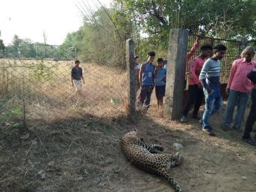
[[[29,68],[32,69],[30,72],[31,76],[37,81],[40,81],[40,80],[49,81],[52,78],[52,74],[53,74],[52,68],[49,66],[46,66],[44,64],[43,59],[41,59],[39,63],[31,63],[29,65]]]

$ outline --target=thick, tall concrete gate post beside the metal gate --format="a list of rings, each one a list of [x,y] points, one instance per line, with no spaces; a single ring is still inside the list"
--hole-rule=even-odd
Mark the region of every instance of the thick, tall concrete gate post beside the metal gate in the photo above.
[[[172,120],[179,119],[183,110],[187,48],[188,31],[171,29],[169,32],[164,114]]]

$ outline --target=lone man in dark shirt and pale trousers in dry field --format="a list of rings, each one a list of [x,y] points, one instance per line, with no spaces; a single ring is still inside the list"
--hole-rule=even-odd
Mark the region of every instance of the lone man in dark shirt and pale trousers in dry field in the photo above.
[[[76,91],[79,95],[81,95],[82,91],[82,84],[81,84],[81,79],[83,80],[85,84],[85,80],[83,77],[83,70],[79,66],[80,62],[79,60],[75,60],[75,66],[71,69],[71,82],[72,86],[76,87]]]

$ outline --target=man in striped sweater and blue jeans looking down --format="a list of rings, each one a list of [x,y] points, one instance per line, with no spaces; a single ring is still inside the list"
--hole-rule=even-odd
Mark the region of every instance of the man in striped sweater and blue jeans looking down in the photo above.
[[[215,133],[212,131],[209,121],[210,116],[222,107],[222,96],[219,89],[219,74],[221,71],[220,60],[224,57],[226,50],[227,48],[223,44],[217,44],[213,47],[214,55],[205,61],[199,76],[205,94],[202,130],[212,136],[215,136]]]

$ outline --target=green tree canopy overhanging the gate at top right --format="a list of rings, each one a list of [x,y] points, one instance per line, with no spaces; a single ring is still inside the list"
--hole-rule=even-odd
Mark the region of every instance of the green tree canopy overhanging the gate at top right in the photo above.
[[[255,38],[254,0],[116,0],[133,23],[157,38],[168,35],[171,28],[188,29],[192,34],[217,38]]]

